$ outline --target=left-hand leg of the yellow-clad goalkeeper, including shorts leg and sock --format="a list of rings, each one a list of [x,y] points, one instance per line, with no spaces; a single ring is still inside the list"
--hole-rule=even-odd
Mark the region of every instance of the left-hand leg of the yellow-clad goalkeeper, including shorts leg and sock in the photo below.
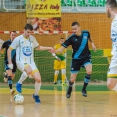
[[[57,84],[58,74],[60,70],[60,62],[58,60],[54,60],[54,84]]]

